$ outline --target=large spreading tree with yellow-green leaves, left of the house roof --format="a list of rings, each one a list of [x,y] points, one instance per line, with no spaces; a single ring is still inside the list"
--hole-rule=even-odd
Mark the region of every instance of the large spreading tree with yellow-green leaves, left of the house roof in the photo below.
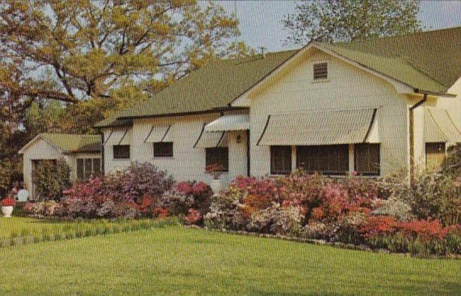
[[[4,0],[0,107],[110,99],[133,84],[156,92],[213,57],[245,52],[239,34],[238,20],[211,2]]]

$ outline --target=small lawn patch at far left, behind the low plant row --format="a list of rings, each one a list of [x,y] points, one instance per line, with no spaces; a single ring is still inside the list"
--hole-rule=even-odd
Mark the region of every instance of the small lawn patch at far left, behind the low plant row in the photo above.
[[[34,233],[44,227],[51,227],[56,224],[62,223],[28,217],[13,216],[11,218],[4,218],[0,216],[0,238],[8,238],[12,232],[20,233],[23,229],[30,230],[30,233]]]

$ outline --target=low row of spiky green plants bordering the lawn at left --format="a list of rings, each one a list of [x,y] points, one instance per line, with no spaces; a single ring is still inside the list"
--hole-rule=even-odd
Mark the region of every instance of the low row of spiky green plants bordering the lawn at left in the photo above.
[[[30,233],[26,228],[20,232],[13,232],[8,238],[0,239],[0,248],[17,245],[29,245],[37,242],[51,242],[71,240],[74,238],[88,238],[92,236],[111,235],[137,230],[178,226],[178,218],[125,220],[125,221],[85,221],[74,222],[58,226],[42,228],[37,233]]]

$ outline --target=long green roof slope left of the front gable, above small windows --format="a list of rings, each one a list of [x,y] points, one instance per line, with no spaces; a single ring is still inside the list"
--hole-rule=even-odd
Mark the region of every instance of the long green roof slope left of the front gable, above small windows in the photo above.
[[[250,56],[212,61],[185,78],[131,109],[116,113],[97,127],[118,125],[116,118],[199,113],[228,109],[230,101],[240,96],[296,51],[281,51],[265,57]]]

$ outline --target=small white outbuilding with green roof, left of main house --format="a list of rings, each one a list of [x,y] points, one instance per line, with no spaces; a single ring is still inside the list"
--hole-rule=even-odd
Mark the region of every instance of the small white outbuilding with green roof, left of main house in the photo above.
[[[102,171],[101,137],[99,135],[70,135],[42,133],[20,149],[23,154],[24,187],[30,199],[38,199],[32,173],[40,161],[63,159],[70,167],[70,179],[87,180]]]

